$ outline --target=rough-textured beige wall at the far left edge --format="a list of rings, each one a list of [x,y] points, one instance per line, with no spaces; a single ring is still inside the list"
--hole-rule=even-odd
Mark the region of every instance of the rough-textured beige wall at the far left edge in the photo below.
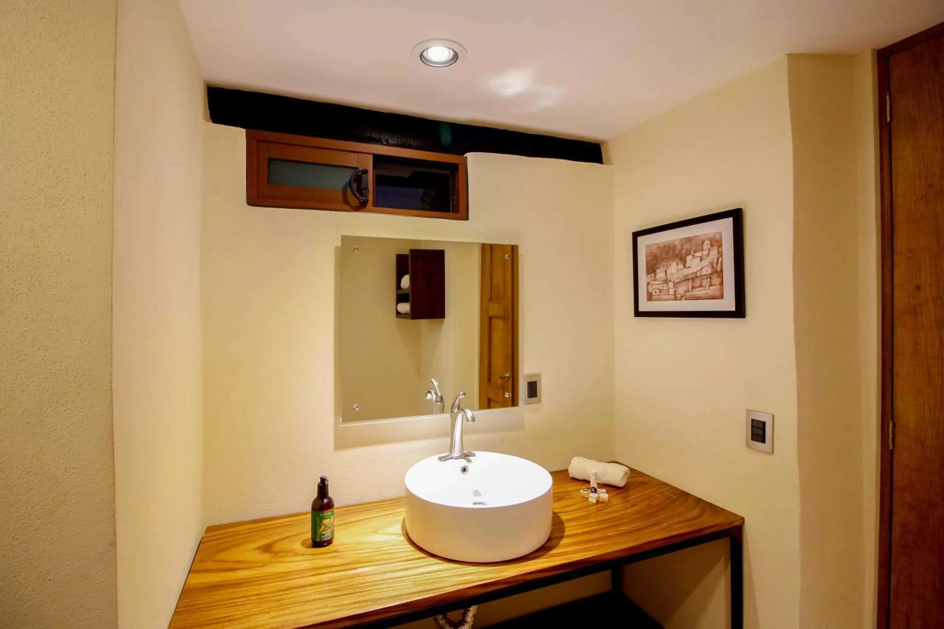
[[[0,626],[115,624],[114,0],[0,3]]]

